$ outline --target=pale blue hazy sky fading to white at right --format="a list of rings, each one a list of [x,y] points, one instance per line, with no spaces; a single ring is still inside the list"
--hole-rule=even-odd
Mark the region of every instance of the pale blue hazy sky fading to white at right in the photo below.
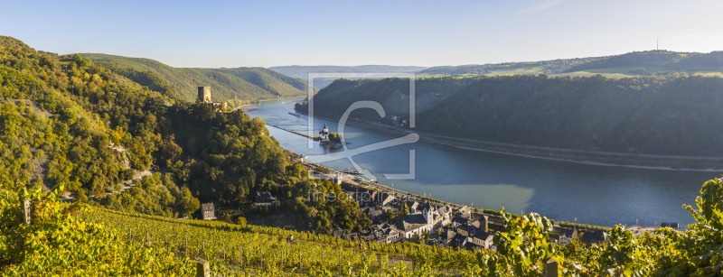
[[[723,50],[721,1],[5,1],[37,50],[174,67],[483,64]]]

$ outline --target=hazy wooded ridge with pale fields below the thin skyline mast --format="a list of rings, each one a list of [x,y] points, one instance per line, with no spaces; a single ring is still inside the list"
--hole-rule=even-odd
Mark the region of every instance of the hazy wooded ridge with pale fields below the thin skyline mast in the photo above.
[[[700,71],[721,72],[723,70],[723,51],[709,53],[637,51],[577,64],[565,72],[621,68],[638,69],[637,72],[633,72],[637,75],[652,75],[659,71],[687,72],[690,75]]]

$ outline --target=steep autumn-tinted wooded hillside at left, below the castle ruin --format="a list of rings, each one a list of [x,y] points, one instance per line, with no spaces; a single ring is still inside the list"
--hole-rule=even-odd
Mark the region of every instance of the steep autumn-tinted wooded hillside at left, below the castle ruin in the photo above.
[[[162,217],[192,216],[200,201],[237,210],[269,191],[296,226],[368,229],[352,201],[305,200],[341,187],[316,187],[263,120],[174,98],[0,36],[0,189],[63,187],[76,202]]]

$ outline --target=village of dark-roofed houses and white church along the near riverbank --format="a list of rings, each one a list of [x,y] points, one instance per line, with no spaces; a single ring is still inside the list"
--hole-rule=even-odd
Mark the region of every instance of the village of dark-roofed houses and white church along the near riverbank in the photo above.
[[[367,243],[396,244],[418,243],[467,249],[470,251],[496,251],[493,245],[495,232],[504,232],[503,218],[485,213],[479,208],[455,205],[391,189],[356,176],[354,171],[335,171],[308,162],[303,156],[292,157],[309,171],[311,179],[332,181],[341,186],[343,195],[334,195],[333,200],[354,201],[357,207],[372,222],[369,230],[349,232],[334,229],[330,235],[350,241]],[[323,170],[322,170],[323,169]],[[324,172],[323,172],[324,171]],[[309,195],[309,200],[330,196]],[[254,208],[278,208],[280,203],[268,191],[259,191],[254,196]],[[205,220],[217,219],[213,203],[202,204],[201,214]],[[268,222],[263,218],[261,222]],[[270,221],[270,220],[269,220]],[[281,227],[281,226],[279,226]],[[296,226],[283,226],[296,228]],[[636,235],[638,232],[636,232]],[[642,232],[640,232],[642,234]],[[527,240],[527,238],[523,238]],[[555,224],[550,242],[567,245],[572,240],[589,245],[604,242],[606,233],[600,230],[566,228]]]

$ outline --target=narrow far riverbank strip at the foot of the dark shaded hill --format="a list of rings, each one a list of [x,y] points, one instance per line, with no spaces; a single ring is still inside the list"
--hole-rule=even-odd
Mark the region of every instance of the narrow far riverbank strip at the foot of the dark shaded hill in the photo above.
[[[315,116],[332,121],[339,120],[339,118],[334,118],[333,116],[328,115],[316,114]],[[391,126],[376,125],[352,119],[349,119],[346,124],[372,129],[386,134],[394,134],[399,136],[409,134],[409,132],[407,131],[402,131]],[[443,137],[437,134],[426,134],[421,132],[415,133],[419,135],[420,142],[436,143],[465,150],[509,154],[526,158],[536,158],[559,162],[576,162],[597,166],[627,167],[645,170],[707,172],[723,171],[723,160],[705,159],[698,157],[671,158],[668,156],[636,155],[630,153],[615,152],[583,152],[570,149],[553,149],[544,147],[533,147],[527,145],[512,145],[506,143],[474,141],[461,138]]]

